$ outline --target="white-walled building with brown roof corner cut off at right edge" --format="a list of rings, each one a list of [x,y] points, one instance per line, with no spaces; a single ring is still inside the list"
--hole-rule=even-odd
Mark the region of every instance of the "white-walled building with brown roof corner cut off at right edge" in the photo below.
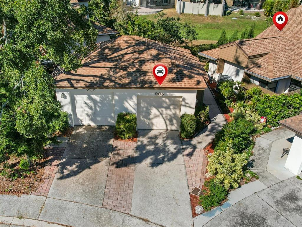
[[[302,112],[297,116],[279,121],[279,124],[296,133],[285,168],[298,175],[302,171]]]

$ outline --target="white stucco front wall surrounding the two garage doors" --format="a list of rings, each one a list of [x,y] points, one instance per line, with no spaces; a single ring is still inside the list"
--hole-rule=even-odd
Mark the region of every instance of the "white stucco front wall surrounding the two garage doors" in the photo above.
[[[61,93],[64,97],[61,97]],[[155,93],[165,93],[162,97],[182,97],[181,115],[183,113],[194,114],[197,90],[147,90],[147,89],[95,89],[94,92],[86,89],[56,89],[57,100],[63,105],[62,110],[69,113],[70,125],[75,124],[75,94],[106,94],[114,93],[115,119],[120,112],[137,113],[137,96],[156,96]]]

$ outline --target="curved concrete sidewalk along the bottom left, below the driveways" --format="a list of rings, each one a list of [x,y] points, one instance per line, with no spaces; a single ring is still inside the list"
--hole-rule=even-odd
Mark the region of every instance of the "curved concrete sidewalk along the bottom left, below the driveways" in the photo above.
[[[44,225],[46,222],[76,227],[156,226],[133,215],[77,202],[32,195],[21,197],[0,195],[0,215],[1,222],[5,224],[23,225],[22,223],[26,222],[27,226],[37,227],[48,227]],[[44,222],[37,224],[35,220]]]

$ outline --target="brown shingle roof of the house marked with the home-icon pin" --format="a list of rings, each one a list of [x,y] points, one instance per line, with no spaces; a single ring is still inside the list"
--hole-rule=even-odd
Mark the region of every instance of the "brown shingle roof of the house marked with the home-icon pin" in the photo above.
[[[288,23],[283,31],[272,25],[253,39],[235,41],[248,56],[264,55],[246,71],[269,79],[293,76],[302,81],[302,29],[299,26],[302,24],[302,5],[286,14]],[[211,54],[209,51],[202,53]],[[217,53],[210,56],[217,58]]]

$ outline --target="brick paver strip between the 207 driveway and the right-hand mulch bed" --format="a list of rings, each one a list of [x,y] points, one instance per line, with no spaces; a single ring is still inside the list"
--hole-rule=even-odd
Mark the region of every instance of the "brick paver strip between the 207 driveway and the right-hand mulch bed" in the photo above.
[[[203,149],[185,149],[183,150],[183,155],[189,191],[191,192],[194,187],[201,188],[204,184],[207,157],[205,156]]]

